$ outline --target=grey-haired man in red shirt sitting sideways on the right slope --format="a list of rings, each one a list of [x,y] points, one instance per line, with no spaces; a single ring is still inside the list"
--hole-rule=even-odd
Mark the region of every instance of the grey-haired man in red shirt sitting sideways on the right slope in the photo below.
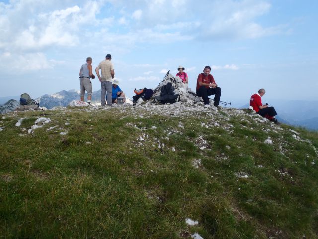
[[[257,114],[261,115],[262,117],[265,117],[269,119],[270,121],[280,124],[277,119],[275,119],[275,116],[277,115],[275,108],[272,106],[268,106],[262,104],[261,97],[265,95],[265,89],[259,89],[258,93],[255,93],[252,95],[249,99],[249,105],[253,107],[253,109],[257,112]]]

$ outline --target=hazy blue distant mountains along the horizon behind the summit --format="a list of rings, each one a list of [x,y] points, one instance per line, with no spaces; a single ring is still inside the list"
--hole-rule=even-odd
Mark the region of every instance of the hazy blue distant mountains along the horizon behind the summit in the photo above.
[[[92,102],[100,102],[101,89],[94,91],[92,94]],[[0,97],[0,105],[6,103],[8,100],[14,99],[19,101],[20,96]],[[65,91],[43,95],[35,99],[40,106],[51,109],[55,106],[68,106],[73,100],[80,100],[80,92],[76,90]],[[87,100],[87,95],[85,95]],[[246,101],[245,101],[246,102]],[[247,102],[246,102],[247,103]],[[302,126],[311,130],[318,130],[318,101],[305,100],[272,100],[270,103],[274,106],[281,122]],[[247,108],[249,105],[244,104],[243,101],[238,100],[235,104],[227,107]]]

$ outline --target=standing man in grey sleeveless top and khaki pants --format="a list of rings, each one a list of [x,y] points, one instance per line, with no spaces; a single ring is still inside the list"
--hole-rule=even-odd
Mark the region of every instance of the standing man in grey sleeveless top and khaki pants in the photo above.
[[[92,58],[87,57],[86,63],[82,64],[79,70],[79,82],[80,82],[80,100],[84,101],[84,95],[85,91],[87,91],[87,102],[90,104],[91,101],[91,94],[93,92],[93,88],[91,85],[90,78],[95,78],[93,72],[92,72]]]

